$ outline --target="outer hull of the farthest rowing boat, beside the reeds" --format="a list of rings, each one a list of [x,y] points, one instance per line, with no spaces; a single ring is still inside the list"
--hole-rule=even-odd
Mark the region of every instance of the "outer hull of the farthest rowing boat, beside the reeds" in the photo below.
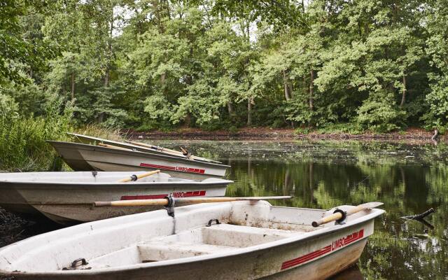
[[[73,142],[48,141],[75,171],[139,171],[160,169],[184,179],[222,178],[228,165],[188,160],[160,153],[125,151]]]

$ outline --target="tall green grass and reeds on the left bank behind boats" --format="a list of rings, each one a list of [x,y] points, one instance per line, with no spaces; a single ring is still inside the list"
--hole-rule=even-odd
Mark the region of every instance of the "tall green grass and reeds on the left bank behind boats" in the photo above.
[[[1,102],[0,102],[1,103]],[[62,113],[62,102],[50,99],[45,116],[23,117],[17,113],[0,116],[0,169],[37,171],[51,169],[57,154],[46,140],[64,141],[71,130],[71,106]]]

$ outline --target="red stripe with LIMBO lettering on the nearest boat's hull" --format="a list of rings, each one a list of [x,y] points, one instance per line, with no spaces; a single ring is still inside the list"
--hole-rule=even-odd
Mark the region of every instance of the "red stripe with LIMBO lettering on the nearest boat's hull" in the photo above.
[[[290,267],[295,267],[296,265],[300,265],[304,262],[308,262],[309,260],[313,260],[315,258],[320,257],[321,255],[325,255],[326,253],[330,253],[331,251],[338,250],[353,241],[362,239],[364,237],[364,230],[360,230],[358,232],[353,232],[351,235],[347,235],[346,237],[342,237],[337,239],[336,241],[332,241],[332,244],[325,246],[323,248],[318,249],[317,251],[307,253],[306,255],[301,255],[299,258],[293,258],[292,260],[286,260],[281,264],[281,270],[287,269]]]

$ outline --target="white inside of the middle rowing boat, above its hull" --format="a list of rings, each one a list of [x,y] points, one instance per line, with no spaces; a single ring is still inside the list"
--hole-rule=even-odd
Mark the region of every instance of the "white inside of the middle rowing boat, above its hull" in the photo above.
[[[146,172],[26,172],[0,173],[0,182],[34,182],[34,183],[118,183],[120,179]],[[208,180],[208,179],[205,179]],[[166,173],[153,174],[137,183],[148,182],[194,182],[190,179],[173,178]],[[204,180],[203,180],[204,181]],[[134,182],[127,182],[134,183]]]

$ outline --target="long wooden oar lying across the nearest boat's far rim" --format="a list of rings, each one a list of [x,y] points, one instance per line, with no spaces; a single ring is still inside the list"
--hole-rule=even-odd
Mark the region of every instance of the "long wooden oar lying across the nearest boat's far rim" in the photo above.
[[[176,204],[180,203],[212,203],[212,202],[233,202],[233,201],[243,201],[243,200],[285,200],[292,198],[290,196],[280,196],[280,197],[181,197],[174,198]],[[118,200],[112,202],[94,202],[94,207],[106,207],[106,206],[114,206],[114,207],[129,207],[129,206],[151,206],[151,205],[160,205],[166,206],[169,204],[169,200],[167,198],[155,199],[155,200]]]

